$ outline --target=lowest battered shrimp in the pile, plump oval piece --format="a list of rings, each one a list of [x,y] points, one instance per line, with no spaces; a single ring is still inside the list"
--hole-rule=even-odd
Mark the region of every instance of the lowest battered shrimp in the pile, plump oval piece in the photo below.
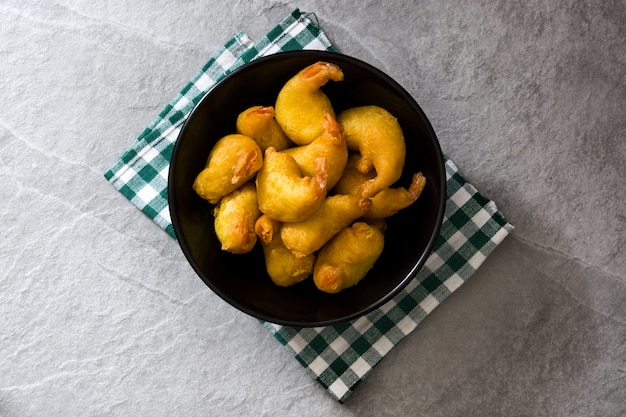
[[[313,268],[315,285],[331,294],[356,285],[372,269],[383,247],[384,236],[378,228],[364,222],[346,227],[319,251]]]

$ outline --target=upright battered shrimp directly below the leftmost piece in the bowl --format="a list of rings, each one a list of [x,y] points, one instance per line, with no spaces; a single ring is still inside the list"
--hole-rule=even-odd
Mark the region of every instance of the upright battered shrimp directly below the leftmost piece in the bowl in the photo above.
[[[222,197],[213,209],[215,234],[222,250],[247,253],[257,241],[254,224],[261,215],[254,183],[247,182]]]

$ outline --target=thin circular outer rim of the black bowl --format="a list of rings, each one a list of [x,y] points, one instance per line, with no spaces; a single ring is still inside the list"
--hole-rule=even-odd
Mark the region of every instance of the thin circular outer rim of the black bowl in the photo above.
[[[277,59],[289,59],[290,57],[293,56],[311,56],[311,57],[317,57],[319,58],[319,60],[333,60],[334,59],[338,59],[338,60],[343,60],[343,61],[347,61],[353,65],[356,65],[358,67],[364,67],[366,70],[376,74],[376,76],[381,77],[382,79],[385,80],[386,83],[389,83],[390,85],[392,85],[395,90],[400,93],[400,95],[402,96],[402,98],[404,100],[406,100],[415,110],[416,112],[419,114],[419,116],[421,117],[421,121],[424,123],[424,126],[426,128],[426,130],[428,131],[428,135],[430,136],[429,141],[432,141],[433,145],[434,145],[434,151],[435,154],[437,155],[437,163],[440,166],[440,171],[441,171],[441,175],[438,176],[437,180],[439,182],[438,187],[441,190],[441,194],[439,196],[439,201],[437,201],[438,203],[438,208],[437,208],[437,215],[436,215],[436,223],[434,225],[434,228],[432,230],[432,233],[428,239],[428,243],[426,244],[426,246],[424,247],[424,250],[422,251],[422,254],[420,256],[420,258],[414,263],[413,267],[410,269],[410,271],[408,271],[405,275],[404,278],[402,278],[395,287],[393,287],[391,290],[389,290],[384,296],[378,298],[375,302],[370,303],[367,307],[361,308],[358,311],[354,311],[351,314],[346,314],[343,315],[341,317],[336,317],[333,319],[325,319],[325,320],[312,320],[312,321],[298,321],[298,320],[291,320],[291,319],[283,319],[280,317],[275,317],[269,314],[264,314],[262,312],[259,311],[255,311],[252,308],[249,308],[243,304],[241,304],[240,302],[238,302],[236,299],[233,299],[233,297],[229,296],[228,294],[224,293],[223,291],[221,291],[216,285],[214,285],[210,279],[208,279],[208,277],[205,277],[204,273],[202,272],[201,268],[199,267],[198,263],[193,259],[193,257],[191,256],[191,250],[187,244],[187,242],[185,241],[185,239],[182,238],[182,231],[181,231],[181,220],[179,217],[178,212],[176,211],[176,208],[174,207],[174,204],[171,204],[170,202],[173,201],[174,199],[174,188],[173,187],[173,172],[175,170],[175,167],[177,165],[176,161],[177,161],[177,155],[180,151],[181,148],[181,141],[180,138],[184,137],[184,135],[187,133],[188,130],[188,126],[189,126],[189,122],[190,120],[193,119],[193,116],[195,115],[196,112],[198,112],[199,108],[203,105],[203,102],[205,100],[209,100],[212,96],[213,91],[218,88],[218,86],[221,83],[227,82],[229,79],[236,77],[240,72],[244,72],[246,71],[248,68],[253,67],[253,66],[258,66],[258,65],[263,65],[264,62],[266,61],[273,61],[273,60],[277,60]],[[411,280],[415,279],[416,274],[424,267],[424,264],[426,263],[426,260],[428,259],[428,257],[431,255],[433,248],[435,246],[435,243],[440,235],[441,232],[441,226],[443,223],[443,218],[444,218],[444,214],[445,214],[445,208],[446,208],[446,199],[447,199],[447,180],[446,180],[446,172],[445,172],[445,158],[443,155],[443,152],[441,150],[441,145],[439,142],[439,139],[432,127],[432,124],[430,122],[430,120],[428,119],[428,117],[426,116],[426,113],[423,111],[423,109],[421,108],[421,106],[417,103],[417,101],[413,98],[413,96],[396,80],[394,80],[391,76],[389,76],[388,74],[386,74],[385,72],[383,72],[382,70],[374,67],[373,65],[362,61],[358,58],[355,58],[353,56],[350,55],[346,55],[340,52],[334,52],[334,51],[321,51],[321,50],[292,50],[292,51],[281,51],[281,52],[276,52],[270,55],[266,55],[266,56],[262,56],[262,57],[258,57],[255,58],[254,60],[244,63],[241,66],[239,66],[238,68],[234,69],[233,71],[227,73],[224,77],[222,77],[219,81],[217,81],[215,83],[215,85],[213,85],[213,87],[211,87],[205,94],[204,96],[202,96],[200,98],[200,100],[198,100],[198,102],[194,105],[193,109],[189,112],[189,114],[185,117],[185,120],[183,121],[183,125],[179,131],[179,134],[176,138],[176,141],[174,143],[174,149],[172,151],[172,155],[170,158],[170,166],[168,169],[168,191],[167,191],[167,197],[168,197],[168,210],[170,213],[170,219],[172,221],[172,227],[174,230],[174,235],[176,236],[176,240],[185,256],[185,258],[187,259],[187,261],[189,262],[189,264],[191,265],[192,269],[194,270],[194,272],[196,273],[196,275],[202,280],[202,282],[204,282],[204,284],[209,287],[209,289],[211,291],[213,291],[213,293],[215,293],[216,295],[218,295],[222,300],[226,301],[228,304],[230,304],[231,306],[235,307],[236,309],[252,316],[255,317],[259,320],[263,320],[269,323],[274,323],[274,324],[278,324],[278,325],[283,325],[283,326],[292,326],[292,327],[300,327],[300,328],[305,328],[305,327],[322,327],[322,326],[330,326],[330,325],[335,325],[335,324],[339,324],[339,323],[344,323],[344,322],[348,322],[351,320],[355,320],[361,316],[364,316],[374,310],[376,310],[377,308],[380,308],[381,306],[383,306],[384,304],[386,304],[387,302],[389,302],[392,298],[394,298],[396,295],[398,295],[398,293],[401,292],[401,290],[403,288],[405,288],[409,282],[411,282]]]

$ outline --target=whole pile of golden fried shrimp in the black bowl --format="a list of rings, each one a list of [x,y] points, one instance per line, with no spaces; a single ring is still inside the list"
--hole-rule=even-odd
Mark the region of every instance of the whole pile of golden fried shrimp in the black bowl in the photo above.
[[[309,277],[337,293],[356,285],[384,247],[385,219],[413,204],[426,178],[400,179],[406,144],[387,110],[353,107],[335,114],[321,87],[341,82],[337,65],[316,62],[280,89],[273,106],[237,116],[220,138],[195,192],[214,204],[222,250],[263,247],[269,277],[287,287]]]

